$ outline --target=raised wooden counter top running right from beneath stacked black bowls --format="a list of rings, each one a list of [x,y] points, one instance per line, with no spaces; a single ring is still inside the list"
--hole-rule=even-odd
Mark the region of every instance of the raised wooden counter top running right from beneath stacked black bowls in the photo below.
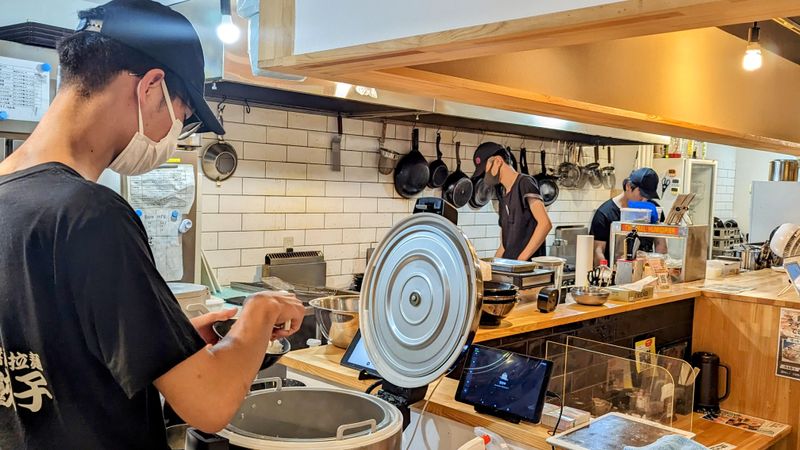
[[[620,314],[651,306],[663,305],[698,297],[700,290],[695,286],[675,285],[668,292],[656,293],[653,298],[638,302],[607,302],[602,306],[583,306],[574,302],[558,305],[551,313],[540,313],[536,303],[520,305],[511,312],[499,327],[479,328],[475,342],[489,341],[529,331],[557,327],[584,320],[595,319],[612,314]]]

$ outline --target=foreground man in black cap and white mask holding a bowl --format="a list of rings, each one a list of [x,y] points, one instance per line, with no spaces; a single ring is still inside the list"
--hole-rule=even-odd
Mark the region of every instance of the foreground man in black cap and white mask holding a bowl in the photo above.
[[[231,312],[183,315],[139,218],[95,181],[158,167],[184,134],[224,133],[203,100],[200,41],[150,0],[79,16],[59,92],[0,163],[0,448],[167,449],[159,392],[189,424],[221,429],[270,336],[304,310],[257,294],[219,342],[210,324]]]

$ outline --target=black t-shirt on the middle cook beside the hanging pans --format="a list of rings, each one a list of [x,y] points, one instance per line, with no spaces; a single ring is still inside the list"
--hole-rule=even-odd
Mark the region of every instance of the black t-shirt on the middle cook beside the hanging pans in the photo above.
[[[538,225],[531,214],[528,200],[536,198],[541,200],[539,184],[528,175],[519,174],[511,189],[500,195],[500,228],[503,230],[503,258],[517,259],[528,245],[533,236],[533,231]],[[537,249],[533,256],[545,254],[544,244]]]

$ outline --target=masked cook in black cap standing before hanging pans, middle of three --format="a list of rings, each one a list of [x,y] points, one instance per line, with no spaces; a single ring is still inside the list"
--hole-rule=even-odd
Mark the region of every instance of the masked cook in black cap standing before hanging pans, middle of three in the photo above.
[[[484,142],[473,155],[475,174],[484,184],[496,186],[500,225],[498,258],[528,261],[545,254],[544,242],[553,228],[536,180],[517,172],[511,155],[501,145]]]

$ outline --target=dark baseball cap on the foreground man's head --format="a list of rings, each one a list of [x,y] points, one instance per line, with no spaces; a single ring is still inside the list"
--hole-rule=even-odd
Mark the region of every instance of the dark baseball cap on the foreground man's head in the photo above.
[[[200,122],[198,133],[225,134],[203,98],[203,47],[189,20],[152,0],[112,0],[101,8],[102,19],[82,19],[76,31],[100,33],[162,64],[181,79],[194,109],[184,125]]]

